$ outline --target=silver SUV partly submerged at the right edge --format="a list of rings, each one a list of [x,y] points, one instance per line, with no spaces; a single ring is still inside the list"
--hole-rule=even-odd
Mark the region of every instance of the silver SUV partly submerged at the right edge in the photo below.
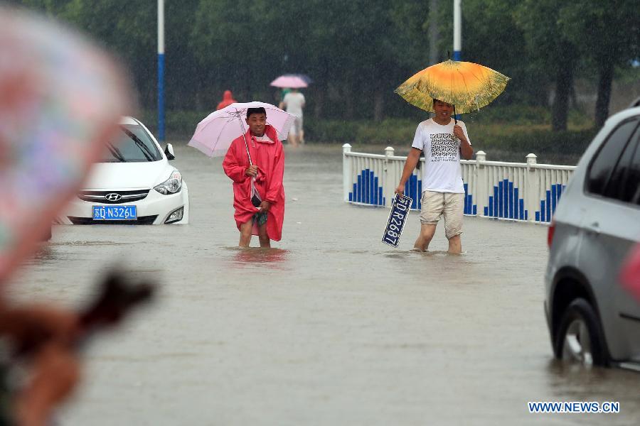
[[[609,118],[549,227],[545,314],[558,359],[640,371],[640,302],[620,269],[640,241],[640,107]]]

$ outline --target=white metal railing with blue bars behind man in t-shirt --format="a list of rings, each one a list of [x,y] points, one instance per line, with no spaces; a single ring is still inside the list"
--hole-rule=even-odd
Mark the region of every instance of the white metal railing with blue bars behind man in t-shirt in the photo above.
[[[342,146],[344,200],[355,204],[390,207],[400,182],[406,157],[397,156],[390,146],[384,155],[354,153]],[[476,160],[461,160],[464,182],[464,214],[499,219],[548,223],[562,190],[575,166],[536,163],[535,154],[526,163],[487,161],[483,151]],[[424,158],[420,158],[425,167]],[[405,184],[405,195],[413,199],[412,209],[420,209],[420,170]]]

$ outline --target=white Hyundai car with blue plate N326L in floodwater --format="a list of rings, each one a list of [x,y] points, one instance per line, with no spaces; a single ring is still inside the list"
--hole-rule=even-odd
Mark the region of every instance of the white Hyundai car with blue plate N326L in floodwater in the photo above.
[[[188,224],[189,190],[158,141],[137,119],[120,122],[117,139],[96,163],[60,224]]]

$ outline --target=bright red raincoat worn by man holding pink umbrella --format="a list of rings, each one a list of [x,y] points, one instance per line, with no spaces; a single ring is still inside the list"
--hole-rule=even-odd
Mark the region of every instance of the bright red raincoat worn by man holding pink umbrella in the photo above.
[[[274,241],[280,241],[284,222],[284,149],[272,126],[265,127],[265,135],[275,142],[257,141],[251,131],[245,133],[251,160],[258,168],[255,188],[263,201],[271,203],[267,213],[267,236]],[[225,174],[233,180],[233,218],[238,229],[241,224],[252,220],[257,212],[251,203],[251,178],[245,175],[248,167],[249,157],[245,139],[240,136],[231,143],[223,161]],[[257,235],[257,231],[257,224],[254,223],[252,234]]]

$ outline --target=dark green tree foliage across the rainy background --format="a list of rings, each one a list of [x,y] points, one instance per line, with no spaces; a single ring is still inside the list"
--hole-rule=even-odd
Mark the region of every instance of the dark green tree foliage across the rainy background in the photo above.
[[[156,104],[156,2],[14,0],[71,23],[126,63],[140,104]],[[452,51],[452,1],[166,1],[166,107],[213,109],[225,89],[241,101],[277,102],[269,83],[310,75],[307,114],[381,120],[420,116],[393,89],[430,65],[427,26],[439,23],[439,57]],[[565,129],[572,82],[599,82],[597,118],[611,79],[640,58],[634,0],[464,0],[463,59],[510,77],[498,104],[545,105]]]

